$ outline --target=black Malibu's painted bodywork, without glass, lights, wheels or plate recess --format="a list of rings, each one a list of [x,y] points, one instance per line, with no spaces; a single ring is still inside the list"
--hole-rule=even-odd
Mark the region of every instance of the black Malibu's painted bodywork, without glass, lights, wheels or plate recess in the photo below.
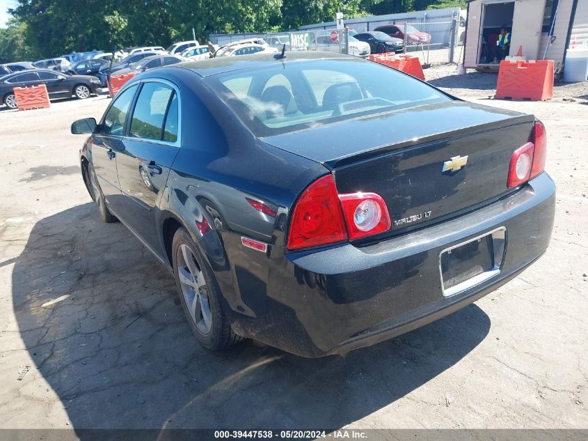
[[[227,57],[144,72],[112,105],[126,91],[135,102],[145,84],[168,84],[181,98],[177,141],[131,137],[129,121],[121,122],[120,136],[104,136],[103,120],[81,150],[82,167],[95,167],[113,215],[168,268],[175,229],[189,231],[237,334],[305,357],[344,354],[477,300],[539,258],[553,227],[555,185],[546,173],[516,189],[505,185],[501,161],[527,141],[532,116],[453,100],[260,139],[205,81],[215,72],[341,57]],[[441,176],[443,160],[457,152],[486,168]],[[141,168],[150,166],[157,169],[145,180]],[[329,174],[340,192],[377,187],[393,218],[431,207],[436,216],[367,241],[287,249],[292,208],[310,183]],[[507,238],[500,273],[445,297],[441,253],[494,231]],[[267,251],[244,247],[242,238]]]

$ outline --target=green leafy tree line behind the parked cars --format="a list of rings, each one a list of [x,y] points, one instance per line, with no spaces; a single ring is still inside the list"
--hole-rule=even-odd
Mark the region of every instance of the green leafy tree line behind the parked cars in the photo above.
[[[206,42],[210,33],[267,33],[303,24],[465,7],[466,0],[18,0],[0,29],[0,63],[138,45]]]

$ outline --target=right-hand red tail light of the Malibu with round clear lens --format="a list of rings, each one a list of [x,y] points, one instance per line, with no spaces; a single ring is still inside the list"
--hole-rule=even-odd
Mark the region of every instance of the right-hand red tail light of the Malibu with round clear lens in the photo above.
[[[539,121],[533,128],[532,142],[514,150],[511,156],[507,187],[513,188],[526,183],[545,169],[547,136],[545,126]]]

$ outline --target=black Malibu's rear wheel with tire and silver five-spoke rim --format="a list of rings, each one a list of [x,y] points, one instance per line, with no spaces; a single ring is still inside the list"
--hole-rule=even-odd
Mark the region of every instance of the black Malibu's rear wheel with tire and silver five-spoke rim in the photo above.
[[[222,349],[243,338],[223,314],[221,290],[188,231],[180,228],[172,242],[173,274],[182,309],[196,339],[208,349]]]

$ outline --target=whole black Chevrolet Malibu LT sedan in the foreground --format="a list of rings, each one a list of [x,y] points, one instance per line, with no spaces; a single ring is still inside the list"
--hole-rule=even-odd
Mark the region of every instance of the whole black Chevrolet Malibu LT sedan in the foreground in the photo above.
[[[100,216],[173,273],[206,348],[389,339],[515,277],[553,227],[534,116],[354,56],[149,70],[72,132]]]

